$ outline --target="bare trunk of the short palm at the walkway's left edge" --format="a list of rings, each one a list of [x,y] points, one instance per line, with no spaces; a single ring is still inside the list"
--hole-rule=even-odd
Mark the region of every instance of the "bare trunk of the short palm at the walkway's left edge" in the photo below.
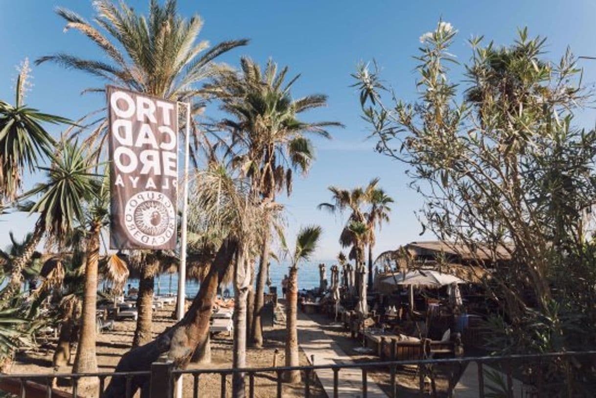
[[[288,278],[288,288],[285,303],[285,366],[299,366],[298,356],[298,330],[297,330],[297,312],[298,312],[298,268],[290,268]],[[287,382],[299,382],[300,371],[288,371],[284,375]]]

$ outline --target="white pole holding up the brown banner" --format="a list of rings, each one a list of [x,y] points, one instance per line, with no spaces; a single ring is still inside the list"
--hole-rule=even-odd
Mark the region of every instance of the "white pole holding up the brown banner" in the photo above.
[[[180,268],[178,270],[178,320],[184,317],[186,304],[186,257],[187,257],[187,210],[188,210],[188,151],[190,140],[190,103],[184,104],[187,108],[186,128],[184,132],[184,177],[182,178],[182,220],[180,231]],[[176,381],[176,398],[182,398],[182,377]]]

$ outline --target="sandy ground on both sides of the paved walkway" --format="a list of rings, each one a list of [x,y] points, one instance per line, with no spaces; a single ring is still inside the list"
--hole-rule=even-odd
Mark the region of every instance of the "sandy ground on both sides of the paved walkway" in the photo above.
[[[162,332],[167,326],[173,324],[171,314],[173,306],[164,307],[154,313],[153,332],[155,335]],[[361,347],[361,343],[352,339],[349,332],[344,331],[337,326],[331,326],[331,320],[322,315],[312,315],[313,319],[321,323],[321,328],[324,328],[327,334],[333,336],[334,340],[342,347],[342,349],[352,356],[355,362],[377,361],[378,357],[374,355],[362,355],[353,351],[353,348]],[[131,347],[132,337],[135,330],[135,322],[133,320],[122,320],[116,322],[114,330],[111,332],[104,332],[97,336],[97,359],[98,370],[100,372],[111,372],[116,368],[117,362],[123,353],[128,351]],[[11,368],[13,374],[51,374],[52,368],[52,354],[54,353],[55,340],[48,338],[40,340],[40,347],[35,351],[25,351],[19,353],[14,365]],[[207,369],[222,369],[231,368],[232,366],[232,338],[225,334],[217,334],[211,340],[212,347],[212,361],[208,365],[197,365],[191,363],[190,369],[193,368],[207,368]],[[285,325],[284,323],[276,324],[274,328],[265,328],[265,344],[261,349],[248,348],[247,349],[247,366],[259,368],[273,365],[273,358],[275,350],[278,350],[277,363],[284,364],[284,344],[285,344]],[[72,349],[72,358],[70,366],[65,366],[63,369],[58,369],[60,372],[68,373],[72,369],[72,361],[75,359],[76,346]],[[300,365],[308,365],[308,360],[300,351]],[[449,369],[435,368],[436,374],[435,382],[437,393],[439,397],[446,396],[448,388],[448,381],[446,372]],[[390,375],[387,368],[370,369],[368,374],[380,387],[390,396]],[[398,368],[396,377],[398,382],[399,396],[401,397],[417,397],[418,396],[418,372],[415,366],[408,366]],[[226,378],[227,396],[231,396],[231,376]],[[107,385],[107,381],[106,381]],[[254,381],[255,396],[262,398],[273,398],[277,394],[277,380],[276,375],[259,374]],[[69,387],[61,387],[70,392]],[[248,380],[247,380],[248,388]],[[219,374],[201,375],[199,379],[200,396],[206,397],[221,397],[221,376]],[[82,393],[83,391],[79,391]],[[83,392],[83,396],[92,397],[94,393],[89,391]],[[137,394],[138,396],[138,394]],[[193,396],[193,377],[184,377],[184,397]],[[302,397],[304,396],[304,383],[297,384],[283,384],[283,397]],[[311,382],[311,396],[325,397],[326,394],[321,388],[321,385],[313,380]]]

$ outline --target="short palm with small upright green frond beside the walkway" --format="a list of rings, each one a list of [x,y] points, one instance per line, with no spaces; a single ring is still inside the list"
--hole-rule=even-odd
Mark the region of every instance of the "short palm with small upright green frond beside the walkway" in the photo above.
[[[309,226],[300,229],[296,237],[296,248],[290,255],[291,266],[287,289],[287,303],[285,308],[285,366],[299,366],[298,354],[298,264],[300,261],[308,261],[316,249],[321,237],[322,229],[319,226]],[[285,239],[281,237],[282,246],[289,253]],[[285,380],[288,382],[300,381],[300,371],[289,371],[285,373]]]

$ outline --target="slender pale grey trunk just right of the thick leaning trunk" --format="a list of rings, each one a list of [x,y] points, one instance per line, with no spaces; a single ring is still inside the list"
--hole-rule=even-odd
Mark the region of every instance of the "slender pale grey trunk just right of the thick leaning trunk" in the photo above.
[[[250,292],[251,265],[243,255],[238,255],[234,269],[234,354],[232,355],[232,368],[246,368],[246,329],[247,329],[247,299]],[[232,375],[232,397],[244,398],[245,382],[244,373]]]

